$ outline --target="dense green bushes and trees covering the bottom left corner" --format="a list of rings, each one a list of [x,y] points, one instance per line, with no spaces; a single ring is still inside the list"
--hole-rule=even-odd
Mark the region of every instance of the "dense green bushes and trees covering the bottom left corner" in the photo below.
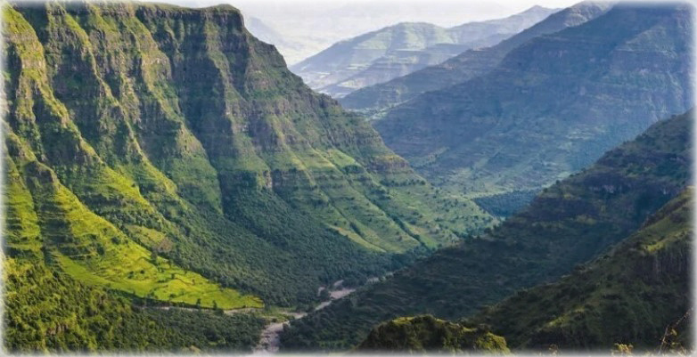
[[[264,320],[249,314],[136,309],[24,258],[4,259],[4,348],[34,352],[250,351]]]

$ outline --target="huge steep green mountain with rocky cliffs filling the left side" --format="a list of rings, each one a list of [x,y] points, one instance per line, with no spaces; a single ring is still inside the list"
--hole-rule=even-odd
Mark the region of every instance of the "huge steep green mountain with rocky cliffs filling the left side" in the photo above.
[[[74,301],[97,296],[70,309],[68,297],[21,296],[16,308],[72,327],[121,297],[311,304],[321,286],[392,271],[493,222],[303,85],[232,6],[12,4],[3,19],[4,254],[18,272],[61,277],[56,291],[86,287]],[[111,347],[89,342],[93,329],[10,329],[26,333],[16,348]]]

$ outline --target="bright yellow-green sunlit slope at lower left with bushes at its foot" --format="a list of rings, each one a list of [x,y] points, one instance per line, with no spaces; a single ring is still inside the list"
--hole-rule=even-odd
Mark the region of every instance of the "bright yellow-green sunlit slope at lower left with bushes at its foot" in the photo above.
[[[163,297],[163,300],[193,304],[187,298],[202,298],[202,305],[208,306],[212,306],[209,298],[217,299],[220,307],[258,304],[258,299],[248,296],[240,301],[241,296],[233,290],[219,288],[193,272],[188,272],[187,278],[197,278],[197,287],[211,291],[186,288],[181,295],[180,289],[166,276],[176,272],[176,267],[165,267],[161,260],[162,265],[157,267],[150,264],[142,247],[129,242],[109,223],[76,203],[70,192],[55,182],[55,175],[49,169],[37,164],[29,152],[22,151],[13,134],[9,133],[6,141],[6,152],[15,153],[20,158],[18,161],[24,161],[16,165],[12,158],[4,158],[3,346],[7,351],[184,352],[219,348],[250,350],[256,345],[258,333],[264,326],[264,320],[256,316],[227,317],[210,312],[179,312],[174,316],[176,312],[140,312],[131,307],[129,300],[100,288],[106,286],[110,290],[128,292],[143,288],[135,294],[146,296],[150,288],[156,287],[157,294],[175,295]],[[40,170],[40,174],[33,174],[34,180],[26,183],[20,169]],[[35,207],[37,194],[52,195],[53,199],[37,199],[41,207]],[[46,209],[46,206],[53,206],[53,209]],[[66,215],[79,217],[67,220]],[[47,224],[54,234],[42,234]],[[94,234],[99,229],[110,231],[119,244],[93,240],[100,237]],[[55,239],[63,241],[57,244]],[[95,250],[104,247],[110,251],[103,256],[94,255]],[[81,253],[79,257],[71,254],[76,252]],[[137,254],[141,254],[140,258],[134,259]],[[56,269],[53,263],[56,261],[68,270],[67,274]],[[143,272],[136,272],[137,277],[131,279],[126,274],[115,276],[114,272],[122,272],[120,269],[95,269],[94,264],[113,264],[119,268],[138,264]],[[83,273],[85,265],[92,271]],[[160,267],[163,272],[157,272]],[[80,272],[70,272],[70,269]],[[99,281],[92,284],[92,280]]]

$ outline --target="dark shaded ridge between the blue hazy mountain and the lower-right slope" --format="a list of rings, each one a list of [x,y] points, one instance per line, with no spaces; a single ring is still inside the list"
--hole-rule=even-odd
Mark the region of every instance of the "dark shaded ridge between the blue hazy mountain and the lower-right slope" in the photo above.
[[[293,321],[282,335],[283,348],[348,349],[381,321],[422,313],[459,319],[516,290],[560,278],[637,231],[685,189],[692,125],[693,112],[662,120],[545,189],[487,234],[440,249]]]

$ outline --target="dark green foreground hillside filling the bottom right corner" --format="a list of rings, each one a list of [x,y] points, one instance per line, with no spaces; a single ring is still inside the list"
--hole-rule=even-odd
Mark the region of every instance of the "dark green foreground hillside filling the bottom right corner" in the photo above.
[[[689,188],[639,231],[561,280],[521,289],[458,323],[432,316],[384,322],[357,348],[500,352],[507,351],[507,339],[514,351],[528,353],[687,353],[692,211]],[[479,326],[480,337],[466,326]],[[463,333],[472,334],[466,343]]]

